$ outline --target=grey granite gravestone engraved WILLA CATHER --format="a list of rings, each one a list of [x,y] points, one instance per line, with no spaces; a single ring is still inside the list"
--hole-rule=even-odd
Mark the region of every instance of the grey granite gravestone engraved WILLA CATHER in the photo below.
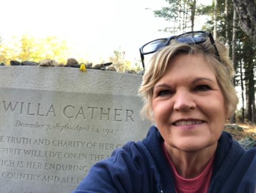
[[[140,75],[59,67],[0,68],[0,186],[70,192],[90,167],[146,136]]]

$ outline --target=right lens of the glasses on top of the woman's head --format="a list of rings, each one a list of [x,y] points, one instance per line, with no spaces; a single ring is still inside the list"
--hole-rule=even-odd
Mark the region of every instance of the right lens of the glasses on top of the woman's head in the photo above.
[[[177,41],[180,43],[187,44],[198,44],[203,43],[208,38],[208,35],[203,32],[191,32],[187,34],[182,34],[177,37]]]

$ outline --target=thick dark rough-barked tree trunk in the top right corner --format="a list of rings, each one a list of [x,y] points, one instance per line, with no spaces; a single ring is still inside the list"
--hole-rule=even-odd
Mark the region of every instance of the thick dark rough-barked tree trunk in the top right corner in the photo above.
[[[241,29],[256,43],[255,0],[233,0]]]

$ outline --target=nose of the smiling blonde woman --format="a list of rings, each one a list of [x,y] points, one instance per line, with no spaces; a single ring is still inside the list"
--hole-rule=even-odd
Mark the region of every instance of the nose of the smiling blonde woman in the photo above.
[[[177,91],[174,96],[173,109],[178,111],[189,111],[196,108],[194,97],[188,91]]]

